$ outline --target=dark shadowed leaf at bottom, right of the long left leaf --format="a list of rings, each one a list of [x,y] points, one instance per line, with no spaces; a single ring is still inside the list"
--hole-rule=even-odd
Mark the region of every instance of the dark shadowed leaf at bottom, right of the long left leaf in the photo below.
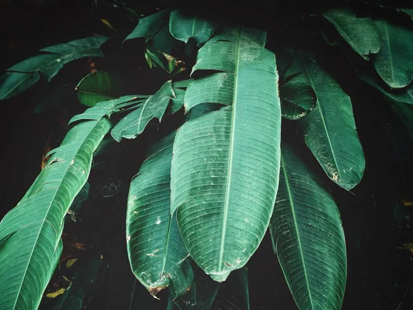
[[[85,308],[87,301],[92,297],[96,279],[103,267],[103,257],[98,254],[78,264],[76,264],[78,266],[72,284],[59,296],[53,304],[52,310],[81,310]]]

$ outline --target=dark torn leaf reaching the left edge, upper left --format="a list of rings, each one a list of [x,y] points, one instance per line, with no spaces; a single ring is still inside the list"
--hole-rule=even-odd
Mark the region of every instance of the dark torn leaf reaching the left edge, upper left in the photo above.
[[[97,36],[79,39],[43,48],[40,54],[25,59],[8,68],[8,72],[0,78],[0,99],[7,99],[30,87],[42,76],[50,81],[63,68],[63,65],[86,56],[103,57],[100,45],[108,37]]]

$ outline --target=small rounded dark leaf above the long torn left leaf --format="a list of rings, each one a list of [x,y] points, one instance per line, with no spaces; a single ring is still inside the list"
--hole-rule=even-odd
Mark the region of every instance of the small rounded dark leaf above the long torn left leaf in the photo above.
[[[115,99],[120,95],[121,89],[118,76],[98,71],[85,76],[76,86],[79,101],[88,107],[93,107],[100,101]]]

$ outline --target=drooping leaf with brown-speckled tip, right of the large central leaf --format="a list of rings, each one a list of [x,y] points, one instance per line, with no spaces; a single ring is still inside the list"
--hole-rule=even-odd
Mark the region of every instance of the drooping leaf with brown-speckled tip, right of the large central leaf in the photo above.
[[[356,132],[350,97],[313,59],[297,52],[287,76],[310,85],[317,107],[299,121],[304,140],[335,183],[350,190],[363,176],[366,160]],[[351,150],[351,152],[349,152]]]

